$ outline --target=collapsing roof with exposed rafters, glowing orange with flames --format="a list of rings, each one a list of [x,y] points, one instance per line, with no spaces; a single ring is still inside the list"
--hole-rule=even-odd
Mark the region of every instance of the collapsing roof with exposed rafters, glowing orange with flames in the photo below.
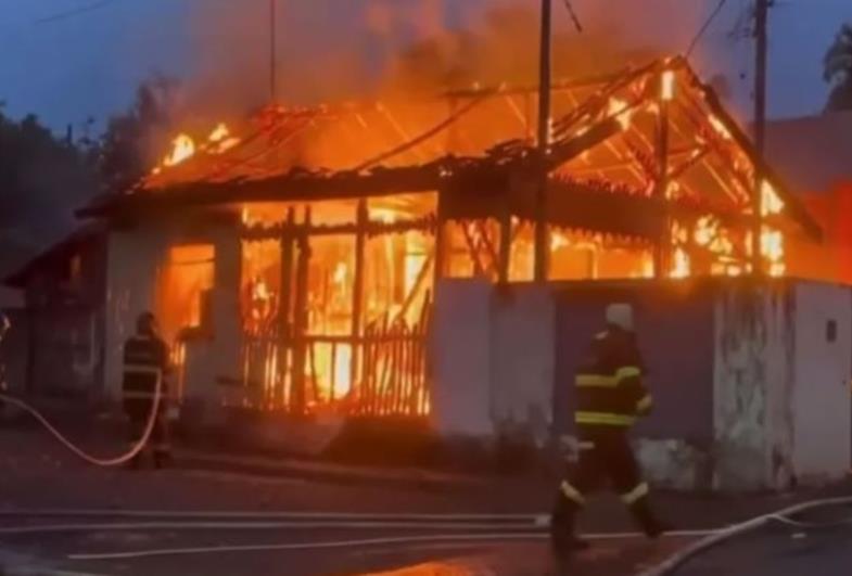
[[[767,220],[819,236],[818,226],[683,59],[556,82],[549,155],[555,184],[651,201],[661,105],[670,127],[665,201],[720,218],[748,217],[754,166],[761,165],[765,194],[777,201],[770,203],[777,209],[764,215]],[[272,106],[243,126],[216,126],[198,142],[177,138],[163,165],[136,188],[98,199],[80,214],[462,189],[461,182],[535,166],[536,107],[534,89],[508,86],[394,104]],[[461,192],[476,194],[482,187],[467,189]]]

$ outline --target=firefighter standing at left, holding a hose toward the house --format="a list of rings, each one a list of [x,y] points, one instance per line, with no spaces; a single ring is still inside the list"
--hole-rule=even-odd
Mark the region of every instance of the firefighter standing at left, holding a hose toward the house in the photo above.
[[[168,438],[166,398],[168,391],[165,377],[169,371],[168,346],[157,334],[156,319],[151,312],[139,315],[136,334],[124,346],[124,408],[130,419],[130,444],[136,445],[145,432],[151,418],[156,387],[160,386],[160,407],[154,417],[154,427],[149,445],[154,456],[154,465],[162,468],[171,461]],[[139,465],[141,451],[130,462]]]

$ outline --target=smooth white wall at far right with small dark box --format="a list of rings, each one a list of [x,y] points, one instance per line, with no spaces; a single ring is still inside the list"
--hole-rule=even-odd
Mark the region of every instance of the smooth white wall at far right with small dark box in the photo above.
[[[852,460],[852,291],[798,283],[796,325],[794,473],[808,484],[837,481]]]

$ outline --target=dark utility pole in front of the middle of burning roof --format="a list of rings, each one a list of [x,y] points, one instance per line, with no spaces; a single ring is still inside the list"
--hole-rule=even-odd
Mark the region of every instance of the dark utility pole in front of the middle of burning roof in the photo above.
[[[550,243],[547,241],[547,149],[550,145],[550,36],[552,2],[542,0],[542,48],[538,71],[538,187],[535,194],[535,268],[536,282],[547,280]]]

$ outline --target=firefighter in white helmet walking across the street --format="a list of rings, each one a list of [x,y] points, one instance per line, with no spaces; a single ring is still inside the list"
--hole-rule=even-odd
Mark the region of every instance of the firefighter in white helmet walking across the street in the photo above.
[[[633,308],[612,304],[607,328],[595,336],[575,376],[574,421],[580,456],[562,482],[551,516],[550,535],[558,554],[587,548],[577,539],[574,522],[589,492],[605,479],[649,538],[663,532],[648,502],[648,485],[627,438],[636,419],[651,410],[651,395],[643,384],[644,366],[633,332]]]

